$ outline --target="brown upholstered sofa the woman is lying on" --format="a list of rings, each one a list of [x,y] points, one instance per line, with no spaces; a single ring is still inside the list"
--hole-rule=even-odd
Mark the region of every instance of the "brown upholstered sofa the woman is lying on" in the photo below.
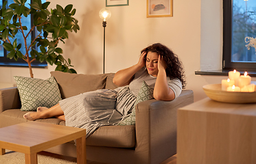
[[[62,98],[97,89],[115,89],[115,74],[69,74],[53,71]],[[86,158],[89,161],[110,164],[161,163],[176,154],[176,112],[178,108],[194,101],[191,90],[183,90],[172,101],[146,100],[136,109],[136,124],[126,126],[102,126],[86,138]],[[27,122],[21,111],[21,99],[17,87],[0,89],[0,128]],[[65,126],[58,118],[36,120]],[[74,142],[45,150],[76,157]]]

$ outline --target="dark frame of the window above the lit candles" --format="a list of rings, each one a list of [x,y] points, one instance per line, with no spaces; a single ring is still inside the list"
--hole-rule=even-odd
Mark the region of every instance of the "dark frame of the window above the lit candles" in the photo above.
[[[256,70],[256,63],[231,61],[232,55],[232,27],[233,0],[223,0],[223,70]]]

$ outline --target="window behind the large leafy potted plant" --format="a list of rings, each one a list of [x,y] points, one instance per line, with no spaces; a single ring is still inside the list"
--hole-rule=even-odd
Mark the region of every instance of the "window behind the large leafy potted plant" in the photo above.
[[[6,1],[6,0],[0,0],[1,8],[2,8],[2,5],[3,5],[4,1]],[[11,3],[14,3],[13,0],[7,0],[7,1],[8,1],[7,5],[10,5]],[[25,6],[27,8],[30,8],[29,3],[31,3],[31,1],[28,0],[25,3]],[[42,0],[42,3],[44,3],[44,2],[45,2],[45,0]],[[32,24],[33,24],[33,19],[31,18],[31,14],[29,16],[27,16],[27,17],[22,16],[22,25],[23,26],[27,26],[27,29],[28,29],[25,32],[28,33],[28,31],[30,30],[30,27],[32,27]],[[34,37],[36,36],[36,32],[37,32],[37,30],[34,30],[32,35],[31,35],[31,37],[27,38],[27,43],[31,42],[31,40],[34,39]],[[25,33],[25,34],[27,34],[27,33]],[[20,49],[21,53],[25,54],[25,44],[24,44],[24,40],[23,40],[22,34],[18,32],[16,34],[15,38],[17,38],[18,44],[21,43],[22,46],[23,46]],[[12,38],[10,38],[10,42],[13,42]],[[1,41],[1,43],[3,43],[3,42]],[[14,60],[14,59],[9,59],[8,57],[6,57],[7,54],[8,54],[8,51],[5,51],[5,49],[3,49],[3,45],[0,44],[0,66],[27,66],[27,62],[24,61],[23,59],[19,58],[18,61]],[[43,63],[40,63],[40,61],[33,61],[32,62],[32,66],[33,67],[45,67],[45,66],[47,66],[47,63],[46,63],[46,61],[43,62]]]

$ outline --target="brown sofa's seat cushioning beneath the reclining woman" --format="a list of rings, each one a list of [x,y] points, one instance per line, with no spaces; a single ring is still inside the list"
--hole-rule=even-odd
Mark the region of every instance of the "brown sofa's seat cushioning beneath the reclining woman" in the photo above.
[[[21,109],[3,111],[0,113],[0,128],[27,122],[27,120],[23,118],[25,113],[27,113],[27,111],[21,111]],[[65,121],[58,118],[47,118],[36,121],[65,126]],[[101,126],[92,135],[86,138],[86,145],[135,148],[135,126]]]

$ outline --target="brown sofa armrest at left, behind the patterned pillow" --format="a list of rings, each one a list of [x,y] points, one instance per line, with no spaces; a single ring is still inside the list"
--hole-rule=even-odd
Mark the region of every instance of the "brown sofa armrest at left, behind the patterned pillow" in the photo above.
[[[0,113],[7,109],[21,109],[21,98],[17,87],[0,89]]]

